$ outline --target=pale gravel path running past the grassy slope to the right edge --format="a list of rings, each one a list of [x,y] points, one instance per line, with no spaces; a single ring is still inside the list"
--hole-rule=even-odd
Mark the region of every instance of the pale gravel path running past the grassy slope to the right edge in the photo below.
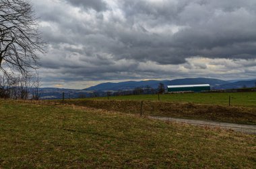
[[[256,135],[256,125],[240,125],[236,123],[222,123],[222,122],[216,122],[216,121],[197,121],[197,120],[190,120],[190,119],[177,119],[177,118],[160,117],[160,116],[149,116],[149,118],[158,119],[161,121],[174,121],[179,123],[188,123],[188,124],[197,125],[197,126],[220,127],[223,129],[232,129],[234,131]]]

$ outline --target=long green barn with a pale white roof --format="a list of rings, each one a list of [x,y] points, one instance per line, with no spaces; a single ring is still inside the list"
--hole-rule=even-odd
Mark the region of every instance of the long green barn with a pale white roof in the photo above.
[[[209,84],[167,86],[168,92],[203,92],[211,90]]]

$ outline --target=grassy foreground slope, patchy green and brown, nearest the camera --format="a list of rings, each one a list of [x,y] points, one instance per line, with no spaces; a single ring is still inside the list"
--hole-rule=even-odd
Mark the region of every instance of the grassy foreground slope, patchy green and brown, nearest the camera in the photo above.
[[[253,168],[256,137],[0,100],[0,168]]]

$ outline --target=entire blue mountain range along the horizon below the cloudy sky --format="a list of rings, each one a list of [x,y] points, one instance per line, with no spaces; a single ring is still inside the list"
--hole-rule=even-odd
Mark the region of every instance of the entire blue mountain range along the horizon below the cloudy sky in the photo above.
[[[255,87],[256,79],[242,80],[242,81],[224,81],[221,79],[212,78],[185,78],[185,79],[174,79],[174,80],[147,80],[147,81],[123,81],[119,83],[100,83],[96,86],[86,88],[83,90],[72,90],[72,89],[60,89],[60,88],[40,88],[42,98],[44,99],[56,99],[62,98],[63,92],[65,98],[79,98],[92,96],[94,92],[104,95],[104,92],[117,92],[119,90],[133,90],[134,88],[158,88],[159,83],[164,83],[164,86],[169,85],[189,85],[189,84],[210,84],[212,90],[226,90],[236,88],[252,88]]]

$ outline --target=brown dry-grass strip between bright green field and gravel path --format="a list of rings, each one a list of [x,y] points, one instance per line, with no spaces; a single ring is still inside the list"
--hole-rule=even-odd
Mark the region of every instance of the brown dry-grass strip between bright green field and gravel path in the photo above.
[[[136,100],[67,100],[62,103],[131,114],[141,113],[141,101]],[[152,116],[256,125],[256,108],[249,107],[143,101],[142,113]]]

